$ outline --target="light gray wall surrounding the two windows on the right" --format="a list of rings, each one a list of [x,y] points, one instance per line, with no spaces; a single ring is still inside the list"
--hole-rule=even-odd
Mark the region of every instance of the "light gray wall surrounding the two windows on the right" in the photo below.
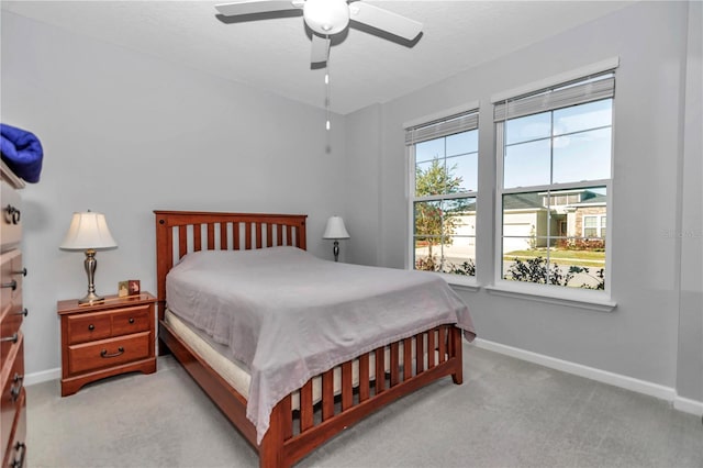
[[[380,138],[378,212],[369,212],[372,204],[365,202],[349,205],[347,216],[378,216],[380,236],[364,245],[353,238],[353,252],[375,252],[382,266],[404,266],[409,220],[402,124],[480,101],[477,261],[479,282],[490,285],[495,185],[491,94],[618,56],[609,216],[617,308],[596,312],[484,289],[459,292],[484,339],[674,388],[702,402],[700,38],[700,3],[640,2],[373,110],[381,119],[377,134],[348,126],[347,141]],[[698,97],[698,104],[687,100],[691,97]],[[347,148],[348,159],[369,160],[368,154]],[[350,190],[349,200],[354,197]]]

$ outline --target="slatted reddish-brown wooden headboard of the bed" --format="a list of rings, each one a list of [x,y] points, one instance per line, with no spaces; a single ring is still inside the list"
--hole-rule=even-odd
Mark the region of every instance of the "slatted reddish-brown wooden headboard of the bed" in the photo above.
[[[159,319],[166,301],[166,274],[189,252],[249,250],[281,245],[306,248],[306,214],[160,210],[154,214]]]

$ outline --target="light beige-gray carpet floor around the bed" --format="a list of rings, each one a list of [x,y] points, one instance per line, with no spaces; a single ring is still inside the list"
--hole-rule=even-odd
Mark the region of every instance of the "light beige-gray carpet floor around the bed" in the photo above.
[[[465,344],[446,378],[350,427],[300,467],[703,468],[703,424],[665,401]],[[170,357],[60,398],[27,388],[29,466],[255,467],[255,452]]]

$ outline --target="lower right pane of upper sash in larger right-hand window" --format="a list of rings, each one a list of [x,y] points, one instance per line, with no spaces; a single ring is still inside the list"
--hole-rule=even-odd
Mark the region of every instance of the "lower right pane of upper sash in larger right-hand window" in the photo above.
[[[554,183],[611,177],[611,129],[554,140]]]

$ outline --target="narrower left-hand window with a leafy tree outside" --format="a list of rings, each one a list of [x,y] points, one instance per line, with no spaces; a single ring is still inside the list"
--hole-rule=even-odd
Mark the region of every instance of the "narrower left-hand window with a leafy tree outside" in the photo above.
[[[414,269],[476,275],[478,112],[406,126]]]

